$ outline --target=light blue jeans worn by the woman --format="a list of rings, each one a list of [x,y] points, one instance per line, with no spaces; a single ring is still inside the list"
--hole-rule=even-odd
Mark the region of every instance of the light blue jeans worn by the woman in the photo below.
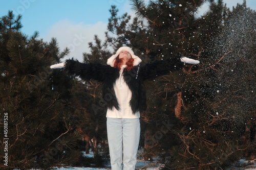
[[[134,170],[140,140],[139,118],[106,120],[112,170]]]

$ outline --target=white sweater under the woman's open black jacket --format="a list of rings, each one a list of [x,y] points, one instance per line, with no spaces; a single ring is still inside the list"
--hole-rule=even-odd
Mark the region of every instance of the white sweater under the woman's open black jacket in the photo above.
[[[132,108],[130,106],[130,100],[132,98],[132,92],[130,88],[127,86],[123,79],[123,69],[126,65],[123,65],[119,74],[119,78],[116,80],[114,84],[114,90],[116,94],[116,98],[120,107],[120,110],[117,110],[115,107],[113,110],[108,109],[106,111],[106,117],[111,118],[139,118],[139,111],[136,114],[133,114]]]

